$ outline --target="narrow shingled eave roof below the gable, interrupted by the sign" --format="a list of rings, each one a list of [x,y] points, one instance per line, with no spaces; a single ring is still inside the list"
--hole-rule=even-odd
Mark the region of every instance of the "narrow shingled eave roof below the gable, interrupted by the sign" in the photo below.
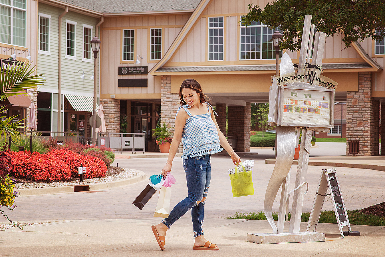
[[[275,64],[248,66],[190,66],[190,67],[161,67],[156,72],[202,72],[202,71],[275,71]],[[367,63],[323,64],[323,69],[360,69],[372,68]]]

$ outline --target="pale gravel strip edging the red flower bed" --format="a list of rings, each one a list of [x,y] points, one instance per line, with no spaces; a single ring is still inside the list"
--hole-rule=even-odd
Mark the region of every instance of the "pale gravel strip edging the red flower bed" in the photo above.
[[[42,188],[42,187],[50,187],[50,186],[76,186],[76,185],[91,185],[91,184],[98,184],[98,183],[105,183],[109,181],[116,181],[116,180],[123,180],[126,178],[131,178],[133,176],[139,175],[139,172],[137,170],[131,170],[131,169],[124,169],[124,171],[110,175],[105,176],[103,178],[87,178],[84,179],[83,182],[80,182],[79,179],[65,182],[65,181],[59,181],[59,182],[25,182],[25,183],[16,183],[15,189],[24,189],[24,188]]]

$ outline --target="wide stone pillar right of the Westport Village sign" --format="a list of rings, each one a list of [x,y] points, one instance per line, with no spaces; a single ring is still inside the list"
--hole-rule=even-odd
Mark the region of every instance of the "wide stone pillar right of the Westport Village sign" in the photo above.
[[[349,140],[360,140],[359,156],[378,155],[379,101],[372,98],[372,73],[358,73],[358,92],[346,92],[346,156]]]

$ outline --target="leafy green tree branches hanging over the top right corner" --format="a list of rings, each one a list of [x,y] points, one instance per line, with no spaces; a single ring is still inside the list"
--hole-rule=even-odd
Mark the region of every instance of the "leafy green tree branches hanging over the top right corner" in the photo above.
[[[277,0],[262,10],[249,5],[249,13],[241,17],[244,25],[259,21],[283,34],[280,49],[300,50],[305,15],[312,15],[317,32],[326,37],[342,34],[345,47],[370,37],[385,36],[385,4],[383,0]]]

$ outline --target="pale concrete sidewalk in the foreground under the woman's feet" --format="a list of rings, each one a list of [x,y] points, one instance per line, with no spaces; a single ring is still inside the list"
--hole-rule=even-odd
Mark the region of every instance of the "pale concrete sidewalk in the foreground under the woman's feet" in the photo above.
[[[0,231],[1,256],[12,257],[147,257],[147,256],[385,256],[385,227],[352,225],[361,236],[340,238],[336,224],[318,225],[325,242],[255,244],[246,242],[247,233],[270,233],[267,221],[207,218],[205,237],[219,251],[192,250],[191,218],[180,218],[166,235],[162,252],[155,240],[152,219],[70,220]],[[301,224],[306,230],[306,223]],[[288,227],[288,224],[286,224]]]

